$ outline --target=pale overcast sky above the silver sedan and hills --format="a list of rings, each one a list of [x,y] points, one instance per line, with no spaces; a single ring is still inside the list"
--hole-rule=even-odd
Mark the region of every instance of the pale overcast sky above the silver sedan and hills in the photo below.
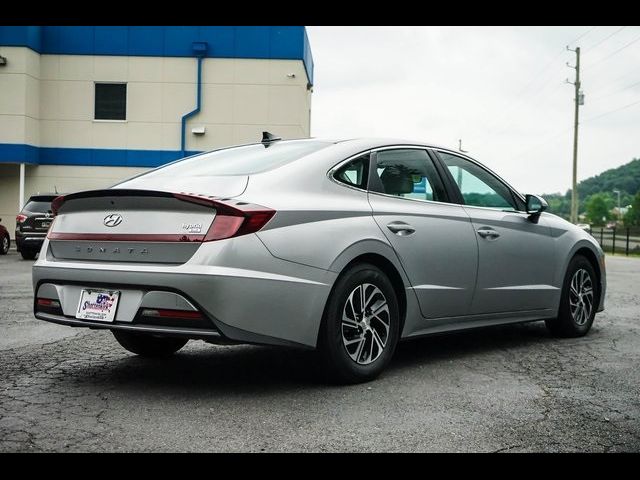
[[[307,27],[311,136],[462,148],[522,193],[571,187],[640,158],[640,27]]]

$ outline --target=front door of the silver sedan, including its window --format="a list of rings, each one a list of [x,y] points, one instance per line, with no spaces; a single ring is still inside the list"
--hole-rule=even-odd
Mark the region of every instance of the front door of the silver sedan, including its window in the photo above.
[[[475,162],[450,152],[438,156],[459,189],[478,242],[478,279],[473,314],[550,308],[554,242],[544,215],[537,223],[524,203],[499,178]]]

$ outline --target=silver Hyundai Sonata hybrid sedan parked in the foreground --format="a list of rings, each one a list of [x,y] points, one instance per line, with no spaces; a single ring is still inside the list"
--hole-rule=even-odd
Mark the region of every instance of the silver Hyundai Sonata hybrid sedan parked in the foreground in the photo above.
[[[143,356],[189,339],[297,346],[361,382],[399,340],[536,320],[577,337],[604,308],[590,235],[430,143],[265,135],[53,209],[35,316]]]

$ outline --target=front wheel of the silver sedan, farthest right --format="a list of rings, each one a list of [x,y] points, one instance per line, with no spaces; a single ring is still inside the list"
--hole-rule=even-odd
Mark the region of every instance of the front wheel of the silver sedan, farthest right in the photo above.
[[[546,320],[549,331],[558,337],[582,337],[591,329],[600,298],[598,277],[591,262],[576,255],[564,278],[558,317]]]

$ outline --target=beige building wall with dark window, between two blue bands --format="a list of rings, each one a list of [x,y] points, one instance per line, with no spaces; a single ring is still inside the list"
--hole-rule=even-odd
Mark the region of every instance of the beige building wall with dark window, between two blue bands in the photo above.
[[[182,116],[196,107],[195,58],[42,55],[40,75],[45,147],[180,150]],[[95,82],[127,83],[126,120],[94,120]],[[302,61],[206,58],[186,149],[252,142],[263,130],[308,137],[308,96]]]

